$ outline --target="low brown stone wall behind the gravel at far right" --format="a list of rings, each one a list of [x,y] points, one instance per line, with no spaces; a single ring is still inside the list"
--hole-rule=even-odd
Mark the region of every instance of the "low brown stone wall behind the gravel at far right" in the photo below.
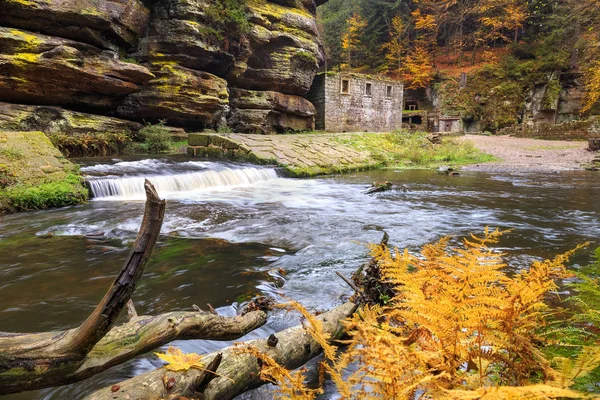
[[[585,140],[600,138],[600,120],[590,118],[583,121],[537,122],[530,126],[516,126],[503,129],[499,134],[548,140]]]

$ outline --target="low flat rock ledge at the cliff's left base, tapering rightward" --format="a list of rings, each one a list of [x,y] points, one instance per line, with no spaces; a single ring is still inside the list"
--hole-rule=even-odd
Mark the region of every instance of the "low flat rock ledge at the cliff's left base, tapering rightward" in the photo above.
[[[0,131],[42,131],[74,135],[135,133],[140,129],[141,124],[118,118],[73,112],[60,107],[0,102]]]

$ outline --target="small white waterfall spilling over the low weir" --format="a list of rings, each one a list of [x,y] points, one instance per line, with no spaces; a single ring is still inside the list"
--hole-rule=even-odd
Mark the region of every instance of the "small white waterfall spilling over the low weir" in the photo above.
[[[200,172],[133,177],[88,177],[92,195],[96,199],[119,198],[137,200],[145,198],[144,180],[148,179],[160,194],[187,192],[196,189],[248,185],[259,181],[276,179],[277,173],[270,168],[220,168]]]

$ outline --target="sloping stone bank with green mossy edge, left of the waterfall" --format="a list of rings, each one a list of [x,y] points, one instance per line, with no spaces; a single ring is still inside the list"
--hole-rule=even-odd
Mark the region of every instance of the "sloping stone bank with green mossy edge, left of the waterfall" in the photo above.
[[[0,215],[81,204],[88,191],[42,132],[0,132]]]

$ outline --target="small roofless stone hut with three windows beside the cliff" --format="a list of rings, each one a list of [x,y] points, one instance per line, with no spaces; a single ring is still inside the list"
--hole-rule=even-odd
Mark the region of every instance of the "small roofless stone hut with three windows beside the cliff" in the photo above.
[[[316,110],[315,129],[385,132],[402,128],[404,85],[383,76],[318,74],[306,98]]]

